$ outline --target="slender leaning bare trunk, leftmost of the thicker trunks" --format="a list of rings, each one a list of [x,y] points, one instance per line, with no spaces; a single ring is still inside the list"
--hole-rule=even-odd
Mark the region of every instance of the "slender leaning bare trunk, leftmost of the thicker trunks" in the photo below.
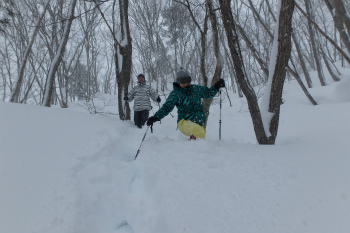
[[[27,61],[28,61],[28,57],[29,57],[29,54],[31,53],[32,51],[32,46],[34,44],[34,40],[36,38],[36,35],[38,34],[38,31],[39,31],[39,28],[40,28],[40,24],[41,24],[41,21],[44,19],[44,16],[45,16],[45,13],[46,13],[46,9],[47,7],[49,6],[49,2],[50,0],[48,0],[45,4],[45,7],[44,7],[44,10],[43,12],[41,13],[39,19],[38,19],[38,22],[36,23],[35,25],[35,29],[33,31],[33,34],[32,36],[30,37],[30,41],[28,43],[28,47],[23,55],[23,58],[22,58],[22,62],[21,62],[21,66],[19,68],[19,72],[18,72],[18,79],[16,81],[16,84],[15,84],[15,88],[13,89],[12,91],[12,94],[11,94],[11,98],[10,98],[10,102],[16,102],[18,103],[19,101],[19,94],[21,92],[21,87],[22,87],[22,83],[23,83],[23,78],[24,78],[24,69],[26,67],[26,64],[27,64]]]

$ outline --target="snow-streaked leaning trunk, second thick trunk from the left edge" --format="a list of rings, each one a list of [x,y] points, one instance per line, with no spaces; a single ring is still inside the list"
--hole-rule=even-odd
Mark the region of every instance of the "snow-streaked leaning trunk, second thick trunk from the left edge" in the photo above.
[[[55,83],[55,75],[58,70],[58,67],[63,59],[64,51],[66,49],[66,45],[68,42],[70,28],[72,26],[72,22],[74,20],[74,8],[77,3],[77,0],[72,0],[68,10],[68,19],[66,20],[66,25],[64,28],[63,38],[61,39],[58,51],[51,62],[51,66],[49,69],[49,74],[46,80],[45,86],[45,95],[43,100],[43,105],[45,107],[51,107],[51,97],[53,93],[54,83]]]

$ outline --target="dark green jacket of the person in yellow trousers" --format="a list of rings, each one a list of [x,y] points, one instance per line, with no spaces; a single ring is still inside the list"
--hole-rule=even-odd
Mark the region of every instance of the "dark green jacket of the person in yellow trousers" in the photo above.
[[[158,120],[168,115],[176,106],[177,122],[182,119],[195,122],[201,126],[205,122],[205,113],[202,107],[202,98],[212,98],[218,93],[218,90],[212,87],[204,87],[190,84],[185,88],[181,88],[176,82],[173,83],[174,90],[163,106],[154,114]]]

